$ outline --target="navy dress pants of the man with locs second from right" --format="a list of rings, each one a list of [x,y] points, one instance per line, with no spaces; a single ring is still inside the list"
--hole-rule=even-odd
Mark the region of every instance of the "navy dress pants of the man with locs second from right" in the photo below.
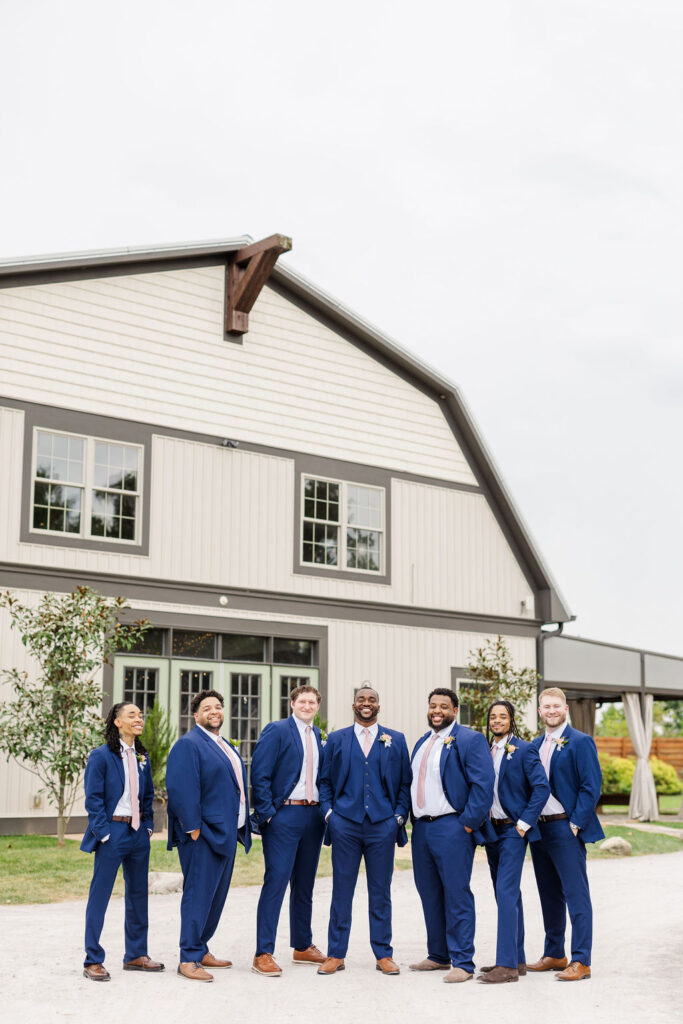
[[[517,968],[525,964],[524,911],[519,884],[526,853],[525,839],[514,825],[495,825],[498,841],[486,843],[486,859],[498,904],[496,964]]]

